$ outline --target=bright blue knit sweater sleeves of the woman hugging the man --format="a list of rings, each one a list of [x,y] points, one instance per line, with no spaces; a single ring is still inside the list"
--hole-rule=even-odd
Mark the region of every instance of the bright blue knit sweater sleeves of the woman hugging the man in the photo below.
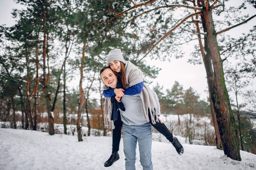
[[[142,81],[136,85],[133,85],[131,87],[128,87],[127,89],[124,89],[124,94],[125,95],[139,94],[142,92],[143,85],[144,85],[144,81]],[[104,95],[104,97],[114,96],[115,95],[114,89],[103,90],[103,95]]]

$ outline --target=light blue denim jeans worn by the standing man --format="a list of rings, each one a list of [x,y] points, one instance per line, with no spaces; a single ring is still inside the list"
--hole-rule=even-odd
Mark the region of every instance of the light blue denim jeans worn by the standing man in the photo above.
[[[143,170],[153,170],[151,161],[152,131],[150,123],[126,125],[123,123],[125,169],[135,170],[136,147],[139,143],[140,163]]]

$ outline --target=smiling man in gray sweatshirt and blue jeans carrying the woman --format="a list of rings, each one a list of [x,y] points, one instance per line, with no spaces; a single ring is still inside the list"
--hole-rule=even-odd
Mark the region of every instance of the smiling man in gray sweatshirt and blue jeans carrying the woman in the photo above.
[[[103,67],[100,72],[105,85],[116,88],[117,75],[109,68]],[[120,98],[117,98],[119,100]],[[152,131],[150,123],[141,111],[141,98],[137,95],[124,95],[121,99],[125,111],[120,109],[123,121],[123,142],[126,170],[135,170],[136,147],[139,144],[140,162],[143,170],[153,170],[151,161]]]

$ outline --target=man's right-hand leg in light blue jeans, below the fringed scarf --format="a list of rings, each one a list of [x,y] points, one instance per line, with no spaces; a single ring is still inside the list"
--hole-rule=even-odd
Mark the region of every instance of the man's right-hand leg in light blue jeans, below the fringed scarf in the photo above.
[[[151,161],[152,131],[150,123],[139,125],[136,129],[139,143],[140,163],[143,170],[153,170]]]

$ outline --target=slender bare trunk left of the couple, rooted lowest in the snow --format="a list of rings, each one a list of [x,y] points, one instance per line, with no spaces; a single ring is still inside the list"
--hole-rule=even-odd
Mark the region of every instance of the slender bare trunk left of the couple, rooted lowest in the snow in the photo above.
[[[76,129],[77,129],[77,137],[78,141],[83,141],[82,139],[82,132],[81,132],[81,112],[83,109],[83,103],[84,103],[84,96],[83,96],[83,65],[85,64],[85,49],[86,49],[86,44],[85,42],[83,43],[83,53],[82,53],[82,59],[81,59],[81,66],[80,66],[80,81],[79,81],[79,93],[80,93],[80,101],[79,101],[79,107],[77,111],[77,123],[76,123]]]

